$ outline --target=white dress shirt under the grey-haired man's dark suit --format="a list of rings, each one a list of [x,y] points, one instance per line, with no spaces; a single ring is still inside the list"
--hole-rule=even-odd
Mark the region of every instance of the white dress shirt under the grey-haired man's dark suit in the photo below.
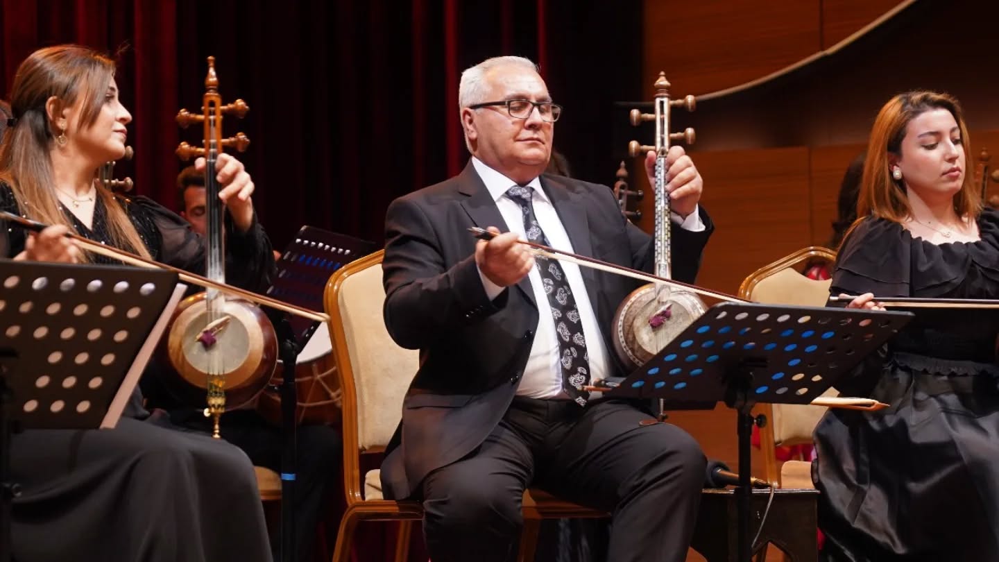
[[[516,182],[500,174],[500,172],[484,164],[476,157],[472,158],[472,164],[486,184],[493,200],[496,201],[500,209],[500,215],[509,227],[510,232],[515,232],[521,238],[526,239],[523,228],[523,212],[520,205],[506,196],[506,190],[516,185]],[[541,189],[541,183],[537,178],[531,180],[527,186],[532,189],[532,204],[534,216],[544,236],[548,239],[548,244],[558,250],[573,252],[572,243],[565,233],[558,214],[555,212],[551,201]],[[692,219],[691,219],[692,217]],[[680,224],[681,228],[691,231],[704,229],[696,209],[686,218],[680,219],[679,215],[672,217],[672,221]],[[497,226],[500,225],[484,225]],[[589,355],[590,380],[597,381],[604,379],[610,372],[610,358],[608,350],[603,344],[603,334],[596,321],[596,314],[593,306],[589,302],[589,294],[579,273],[579,266],[574,263],[559,262],[565,272],[565,280],[568,283],[572,296],[575,297],[575,306],[578,309],[580,320],[582,321],[582,335],[586,340],[586,353]],[[496,283],[490,281],[482,270],[479,276],[483,280],[483,286],[490,299],[495,299],[503,291]],[[533,291],[534,303],[537,305],[537,328],[534,330],[534,341],[530,347],[530,355],[527,357],[527,364],[524,367],[523,377],[517,386],[516,394],[529,398],[556,398],[567,399],[568,396],[562,391],[562,373],[559,364],[558,336],[555,333],[555,324],[551,319],[551,306],[548,304],[548,296],[544,293],[541,284],[541,275],[537,268],[531,268],[527,274],[530,288]],[[510,290],[515,290],[512,286]],[[608,326],[609,328],[609,326]]]

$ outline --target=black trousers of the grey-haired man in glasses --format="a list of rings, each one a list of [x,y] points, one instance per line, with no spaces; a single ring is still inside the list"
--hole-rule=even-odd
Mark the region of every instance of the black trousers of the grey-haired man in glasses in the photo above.
[[[681,429],[633,403],[516,397],[475,452],[423,482],[434,562],[507,562],[516,553],[524,488],[612,515],[611,562],[686,558],[704,455]]]

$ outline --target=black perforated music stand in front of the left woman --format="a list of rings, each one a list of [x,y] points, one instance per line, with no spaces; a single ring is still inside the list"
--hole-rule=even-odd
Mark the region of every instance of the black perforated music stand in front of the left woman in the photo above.
[[[13,426],[114,428],[184,288],[165,270],[0,260],[0,562]]]

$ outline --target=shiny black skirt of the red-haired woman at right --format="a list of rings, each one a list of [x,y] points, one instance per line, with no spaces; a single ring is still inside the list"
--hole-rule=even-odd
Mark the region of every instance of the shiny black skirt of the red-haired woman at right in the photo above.
[[[895,353],[871,396],[815,430],[827,558],[999,560],[999,369]]]

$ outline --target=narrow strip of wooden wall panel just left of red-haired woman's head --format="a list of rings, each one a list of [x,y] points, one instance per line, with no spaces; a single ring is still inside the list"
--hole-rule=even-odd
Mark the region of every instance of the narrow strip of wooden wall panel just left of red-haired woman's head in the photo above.
[[[839,187],[850,162],[862,150],[863,144],[848,144],[813,148],[810,151],[811,244],[828,246],[832,236],[832,221],[838,215]],[[762,265],[762,264],[760,264]]]

